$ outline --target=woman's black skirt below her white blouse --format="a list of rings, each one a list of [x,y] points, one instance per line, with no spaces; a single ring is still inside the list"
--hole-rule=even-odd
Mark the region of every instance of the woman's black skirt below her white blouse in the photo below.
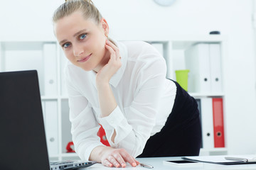
[[[138,157],[197,156],[201,148],[202,134],[196,100],[177,86],[171,114],[160,132],[146,142]]]

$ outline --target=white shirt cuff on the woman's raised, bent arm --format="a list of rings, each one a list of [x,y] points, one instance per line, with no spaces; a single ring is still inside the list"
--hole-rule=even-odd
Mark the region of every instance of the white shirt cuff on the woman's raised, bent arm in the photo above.
[[[124,115],[118,106],[114,108],[114,111],[112,111],[110,115],[106,116],[105,118],[99,118],[100,124],[105,130],[117,128],[123,119]]]

